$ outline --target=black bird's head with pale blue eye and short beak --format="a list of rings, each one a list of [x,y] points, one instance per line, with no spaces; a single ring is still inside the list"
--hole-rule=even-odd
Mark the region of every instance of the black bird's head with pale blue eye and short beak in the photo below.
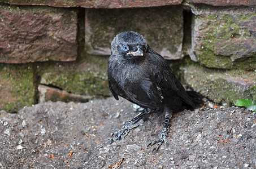
[[[125,58],[145,56],[147,42],[141,34],[137,32],[122,32],[116,35],[111,42],[111,52],[113,55]]]

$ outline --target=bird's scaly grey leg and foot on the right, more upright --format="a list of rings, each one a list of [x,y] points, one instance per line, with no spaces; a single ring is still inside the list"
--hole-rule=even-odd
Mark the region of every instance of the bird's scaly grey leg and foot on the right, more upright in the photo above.
[[[166,132],[166,128],[168,126],[169,120],[172,117],[172,111],[165,109],[166,114],[165,114],[165,120],[164,120],[164,125],[163,125],[163,130],[160,132],[160,137],[158,137],[158,139],[156,139],[155,141],[152,141],[151,143],[149,143],[147,146],[150,145],[154,145],[155,143],[158,143],[152,150],[152,153],[154,152],[154,150],[158,150],[159,146],[163,143],[166,144],[166,146],[168,145],[167,143],[167,132]]]

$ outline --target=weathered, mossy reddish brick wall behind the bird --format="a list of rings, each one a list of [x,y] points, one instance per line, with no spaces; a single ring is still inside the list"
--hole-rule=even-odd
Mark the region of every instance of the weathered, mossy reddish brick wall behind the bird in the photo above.
[[[186,84],[210,100],[256,100],[255,7],[253,0],[4,0],[0,109],[109,96],[110,42],[125,30],[144,35]]]

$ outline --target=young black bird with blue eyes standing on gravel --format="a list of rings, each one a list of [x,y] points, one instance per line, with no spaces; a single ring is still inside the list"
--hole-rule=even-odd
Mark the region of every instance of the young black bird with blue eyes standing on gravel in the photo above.
[[[166,128],[172,111],[194,109],[192,99],[172,73],[166,60],[153,51],[141,34],[122,32],[111,42],[111,56],[108,60],[107,76],[109,88],[116,100],[118,96],[145,108],[119,131],[113,134],[110,143],[122,139],[131,128],[143,122],[145,114],[160,111],[165,115],[160,136],[149,145],[167,145]],[[149,146],[147,145],[147,146]]]

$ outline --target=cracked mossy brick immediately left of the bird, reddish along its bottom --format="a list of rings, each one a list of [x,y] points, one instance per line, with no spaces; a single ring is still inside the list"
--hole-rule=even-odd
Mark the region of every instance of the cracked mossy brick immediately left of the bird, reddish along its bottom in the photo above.
[[[86,60],[72,63],[37,63],[37,69],[41,77],[40,84],[60,89],[60,91],[48,90],[45,99],[49,100],[51,98],[50,100],[56,101],[59,98],[62,101],[74,101],[72,99],[79,95],[89,97],[109,96],[106,60],[107,57],[103,56],[86,56]],[[52,97],[53,92],[58,96]],[[67,92],[74,95],[67,95]],[[42,100],[41,98],[40,100]]]

